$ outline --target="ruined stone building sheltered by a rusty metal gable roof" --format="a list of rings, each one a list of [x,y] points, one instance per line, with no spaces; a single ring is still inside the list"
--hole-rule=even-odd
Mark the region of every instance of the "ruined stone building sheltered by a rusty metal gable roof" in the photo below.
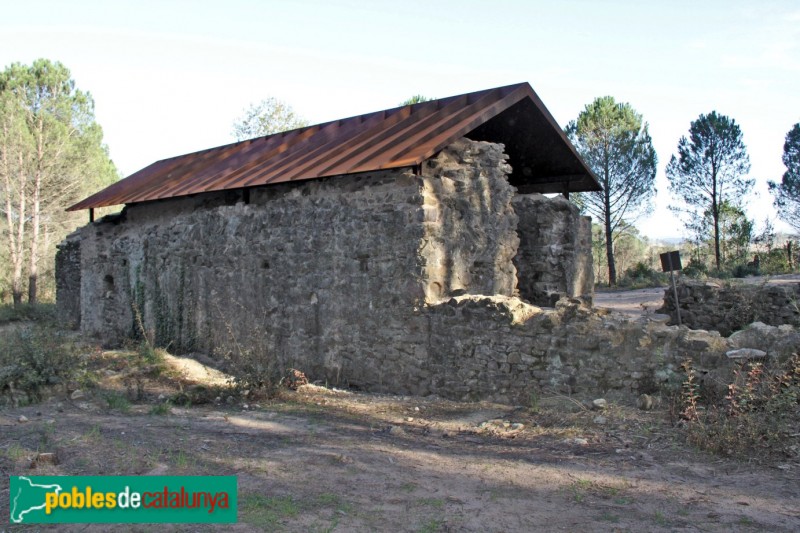
[[[550,364],[513,324],[591,299],[590,221],[568,195],[599,188],[527,83],[212,148],[70,208],[91,222],[60,245],[58,312],[108,344],[141,320],[174,351],[511,399]],[[470,302],[488,314],[454,329]]]

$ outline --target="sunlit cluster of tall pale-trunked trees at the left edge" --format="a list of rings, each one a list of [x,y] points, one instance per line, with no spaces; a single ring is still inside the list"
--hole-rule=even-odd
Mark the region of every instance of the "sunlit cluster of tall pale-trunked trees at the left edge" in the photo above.
[[[43,253],[69,229],[64,208],[117,178],[94,120],[94,102],[75,88],[64,65],[38,59],[0,73],[0,209],[16,305],[26,258],[28,302],[38,300]]]

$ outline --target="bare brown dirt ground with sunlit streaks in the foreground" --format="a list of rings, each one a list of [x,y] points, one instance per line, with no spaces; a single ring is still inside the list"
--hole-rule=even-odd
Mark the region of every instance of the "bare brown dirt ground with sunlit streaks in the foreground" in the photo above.
[[[549,396],[509,407],[309,385],[250,403],[212,390],[210,403],[159,409],[219,375],[170,358],[180,379],[128,402],[114,370],[124,354],[96,357],[104,378],[85,396],[0,411],[0,531],[48,529],[6,525],[8,476],[21,474],[238,478],[233,526],[115,531],[800,530],[800,464],[697,452],[663,406],[596,411]],[[42,452],[57,464],[37,463]]]

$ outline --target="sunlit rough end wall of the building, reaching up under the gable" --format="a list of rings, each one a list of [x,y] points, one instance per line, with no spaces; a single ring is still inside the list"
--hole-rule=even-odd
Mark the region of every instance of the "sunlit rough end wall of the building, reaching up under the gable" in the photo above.
[[[420,258],[429,303],[454,294],[515,293],[511,259],[519,237],[510,172],[502,145],[468,139],[423,165]]]

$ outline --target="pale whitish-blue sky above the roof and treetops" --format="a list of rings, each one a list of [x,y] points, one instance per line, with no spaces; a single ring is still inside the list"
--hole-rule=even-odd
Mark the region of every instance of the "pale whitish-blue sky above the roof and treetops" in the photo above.
[[[716,110],[740,125],[759,226],[800,121],[796,0],[0,0],[0,13],[0,67],[64,63],[125,176],[232,142],[233,120],[268,96],[317,123],[527,81],[561,125],[603,95],[644,116],[658,196],[637,225],[671,237],[664,168],[692,120]]]

